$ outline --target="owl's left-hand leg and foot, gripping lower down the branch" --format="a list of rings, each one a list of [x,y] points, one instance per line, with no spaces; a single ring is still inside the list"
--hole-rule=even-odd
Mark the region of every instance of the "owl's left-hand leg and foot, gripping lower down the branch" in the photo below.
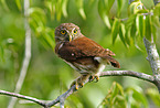
[[[75,79],[71,87],[75,85],[75,89],[82,88],[84,86],[84,82],[89,77],[89,75],[82,75],[77,79]]]

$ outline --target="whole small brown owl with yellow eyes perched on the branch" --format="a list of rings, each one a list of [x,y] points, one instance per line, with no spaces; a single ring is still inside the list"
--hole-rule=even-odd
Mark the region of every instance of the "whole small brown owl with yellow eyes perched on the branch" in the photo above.
[[[119,63],[111,57],[115,55],[108,48],[104,48],[93,40],[84,36],[77,25],[62,23],[55,29],[55,53],[82,74],[72,85],[83,87],[86,79],[99,79],[99,73],[110,64],[120,67]]]

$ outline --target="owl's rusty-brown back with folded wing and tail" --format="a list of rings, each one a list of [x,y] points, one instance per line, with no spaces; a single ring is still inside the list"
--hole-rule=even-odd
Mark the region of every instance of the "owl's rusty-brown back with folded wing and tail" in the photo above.
[[[102,47],[96,42],[85,36],[75,39],[72,42],[57,44],[55,53],[65,61],[74,61],[76,58],[89,56],[103,57],[108,60],[113,66],[120,67],[119,63],[111,57],[115,53]]]

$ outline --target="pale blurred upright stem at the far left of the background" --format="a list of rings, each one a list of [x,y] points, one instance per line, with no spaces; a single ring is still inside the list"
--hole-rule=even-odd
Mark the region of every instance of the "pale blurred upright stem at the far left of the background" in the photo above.
[[[22,85],[23,85],[23,82],[24,82],[24,78],[25,78],[25,75],[26,75],[29,63],[31,60],[31,29],[30,29],[30,25],[28,23],[28,17],[29,17],[28,9],[29,9],[29,7],[30,7],[30,0],[24,0],[25,55],[24,55],[23,64],[22,64],[22,67],[20,71],[20,76],[19,76],[19,79],[18,79],[17,85],[15,85],[14,93],[20,93]],[[17,98],[11,98],[8,108],[13,108],[15,101],[17,101]]]

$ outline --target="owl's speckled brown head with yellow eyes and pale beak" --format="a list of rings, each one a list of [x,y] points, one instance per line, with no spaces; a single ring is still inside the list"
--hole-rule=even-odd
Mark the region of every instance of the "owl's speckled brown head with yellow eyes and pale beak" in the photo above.
[[[81,35],[79,28],[73,23],[62,23],[55,29],[55,42],[71,42]]]

